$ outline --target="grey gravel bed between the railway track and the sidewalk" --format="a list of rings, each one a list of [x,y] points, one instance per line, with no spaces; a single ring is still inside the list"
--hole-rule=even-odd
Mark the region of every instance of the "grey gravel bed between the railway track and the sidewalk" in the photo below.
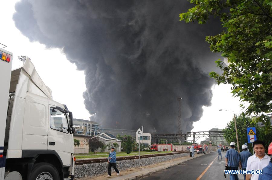
[[[174,154],[174,155],[167,155],[167,156],[157,156],[157,157],[149,157],[141,159],[141,166],[148,166],[154,163],[160,163],[163,161],[168,161],[171,159],[176,159],[184,156],[189,156],[189,153],[182,153],[182,154]],[[123,160],[117,161],[116,167],[120,171],[124,171],[125,169],[138,167],[139,166],[139,159],[131,159],[131,160]],[[93,163],[93,164],[83,164],[83,165],[76,165],[75,166],[75,178],[81,177],[90,177],[99,174],[104,174],[108,172],[108,163]],[[115,170],[112,168],[112,173],[115,173]]]

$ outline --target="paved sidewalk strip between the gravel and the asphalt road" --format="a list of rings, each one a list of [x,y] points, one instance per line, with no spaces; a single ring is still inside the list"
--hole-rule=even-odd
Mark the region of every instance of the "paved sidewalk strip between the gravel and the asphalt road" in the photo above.
[[[204,154],[194,154],[194,158],[202,156]],[[193,159],[189,156],[186,157],[180,157],[177,159],[172,159],[169,161],[164,161],[161,163],[157,163],[154,165],[150,165],[150,166],[142,166],[142,167],[138,167],[138,168],[130,168],[130,169],[126,169],[125,171],[120,171],[120,175],[116,175],[116,173],[112,173],[112,176],[107,176],[107,174],[105,175],[101,175],[101,176],[94,176],[92,178],[90,177],[83,177],[83,178],[76,178],[77,180],[106,180],[106,179],[115,179],[115,180],[131,180],[131,179],[136,179],[136,178],[140,178],[143,177],[145,175],[160,171],[162,169],[167,169],[169,167],[172,166],[176,166],[180,163],[183,163],[185,161],[188,161],[190,159]]]

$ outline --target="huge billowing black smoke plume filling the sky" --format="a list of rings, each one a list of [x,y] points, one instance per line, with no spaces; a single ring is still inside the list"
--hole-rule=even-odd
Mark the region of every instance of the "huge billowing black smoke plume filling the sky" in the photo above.
[[[179,21],[185,0],[22,0],[13,16],[31,41],[62,48],[84,71],[85,106],[106,128],[176,133],[182,97],[182,131],[190,131],[210,106],[219,55],[205,36],[220,22]]]

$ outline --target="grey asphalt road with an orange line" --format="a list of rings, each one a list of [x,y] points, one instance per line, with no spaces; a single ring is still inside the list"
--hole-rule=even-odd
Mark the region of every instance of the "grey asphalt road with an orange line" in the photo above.
[[[210,153],[191,159],[184,163],[181,163],[177,166],[173,166],[151,175],[145,176],[140,179],[145,180],[158,180],[158,179],[197,179],[202,174],[201,180],[210,180],[210,179],[229,179],[224,177],[225,169],[225,154],[222,152],[222,158],[217,159],[218,154],[211,151]],[[212,163],[212,164],[211,164]],[[209,169],[204,173],[205,169],[211,164]],[[239,179],[244,179],[242,176],[239,176]]]

